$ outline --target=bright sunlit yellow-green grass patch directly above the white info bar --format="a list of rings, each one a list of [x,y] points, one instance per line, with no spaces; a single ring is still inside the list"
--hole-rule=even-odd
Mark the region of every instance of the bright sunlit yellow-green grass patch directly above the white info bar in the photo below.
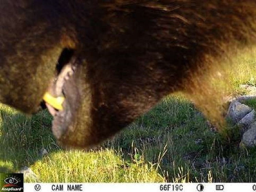
[[[113,150],[53,153],[36,162],[33,172],[41,182],[164,182],[156,166],[143,159],[127,162]],[[26,181],[34,181],[27,178]]]

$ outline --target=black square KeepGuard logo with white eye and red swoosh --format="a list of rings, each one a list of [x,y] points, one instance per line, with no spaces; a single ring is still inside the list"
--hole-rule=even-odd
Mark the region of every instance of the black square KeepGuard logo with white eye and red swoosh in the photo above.
[[[23,192],[22,173],[0,173],[0,192]]]

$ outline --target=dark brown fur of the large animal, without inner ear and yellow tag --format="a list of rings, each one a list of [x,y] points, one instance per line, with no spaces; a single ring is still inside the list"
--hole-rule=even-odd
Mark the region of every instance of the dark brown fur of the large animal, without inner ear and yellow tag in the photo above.
[[[64,146],[87,147],[164,96],[192,93],[199,74],[255,42],[253,0],[4,0],[0,102],[35,112],[61,53],[72,50],[77,67],[63,88],[70,116],[53,133]]]

